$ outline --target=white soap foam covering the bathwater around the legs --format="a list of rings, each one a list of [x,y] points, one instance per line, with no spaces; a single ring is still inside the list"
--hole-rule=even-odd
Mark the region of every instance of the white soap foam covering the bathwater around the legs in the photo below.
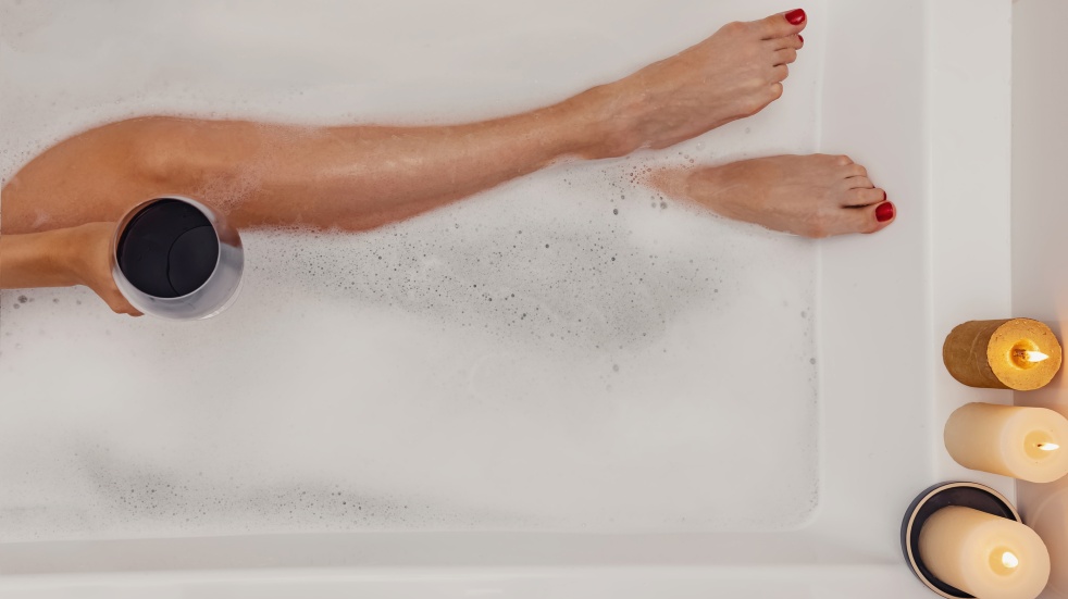
[[[572,48],[591,59],[561,70],[551,52],[477,43],[486,25],[465,4],[438,15],[455,25],[440,32],[400,27],[407,5],[326,4],[4,5],[0,85],[18,92],[0,100],[0,173],[139,114],[504,114],[678,50],[675,37],[707,35],[701,20],[743,16],[606,13],[594,38],[628,45]],[[519,37],[571,39],[572,9],[549,4],[523,22],[508,20],[516,7],[480,10]],[[359,28],[308,37],[306,12]],[[220,25],[237,17],[241,33]],[[89,46],[87,24],[115,42]],[[0,535],[797,526],[818,499],[815,246],[638,180],[810,151],[812,73],[793,70],[788,102],[668,151],[555,166],[359,235],[243,233],[245,288],[209,321],[119,317],[84,288],[0,292]]]

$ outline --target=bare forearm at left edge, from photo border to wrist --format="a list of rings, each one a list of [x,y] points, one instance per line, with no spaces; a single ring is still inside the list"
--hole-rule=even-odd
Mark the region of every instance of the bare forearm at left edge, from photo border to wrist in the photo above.
[[[69,237],[64,229],[0,235],[0,289],[78,285]]]

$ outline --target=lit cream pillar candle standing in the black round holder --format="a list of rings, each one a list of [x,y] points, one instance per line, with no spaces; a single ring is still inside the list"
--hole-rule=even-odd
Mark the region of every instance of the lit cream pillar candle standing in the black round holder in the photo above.
[[[931,514],[919,549],[932,574],[979,599],[1034,599],[1050,582],[1050,552],[1034,531],[971,508]]]

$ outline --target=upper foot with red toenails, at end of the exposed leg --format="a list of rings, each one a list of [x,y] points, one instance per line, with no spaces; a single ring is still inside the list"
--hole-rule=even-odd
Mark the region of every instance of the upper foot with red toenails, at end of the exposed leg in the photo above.
[[[805,11],[730,23],[710,38],[600,88],[612,155],[666,148],[779,99],[804,45]]]

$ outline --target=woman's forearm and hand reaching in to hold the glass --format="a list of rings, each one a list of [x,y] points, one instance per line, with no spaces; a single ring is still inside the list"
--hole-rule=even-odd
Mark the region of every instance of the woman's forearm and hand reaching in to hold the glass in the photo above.
[[[0,235],[0,289],[85,285],[112,310],[139,316],[111,276],[114,223]]]

